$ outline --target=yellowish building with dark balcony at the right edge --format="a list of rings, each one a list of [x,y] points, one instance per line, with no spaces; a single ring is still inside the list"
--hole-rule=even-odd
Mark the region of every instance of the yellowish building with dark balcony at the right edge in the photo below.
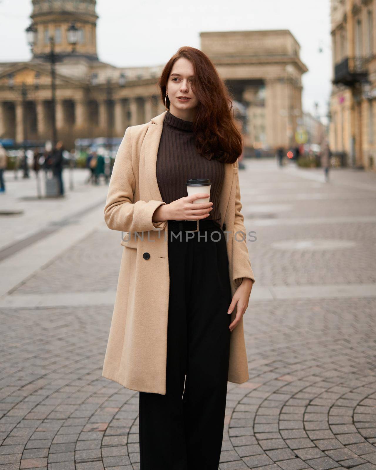
[[[329,144],[350,166],[376,169],[376,0],[331,0]]]

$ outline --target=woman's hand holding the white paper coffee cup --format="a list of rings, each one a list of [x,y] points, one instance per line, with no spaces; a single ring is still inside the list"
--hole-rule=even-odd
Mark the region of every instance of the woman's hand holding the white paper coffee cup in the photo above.
[[[194,203],[196,199],[210,197],[207,193],[197,193],[191,196],[180,197],[172,201],[170,204],[160,206],[161,210],[159,217],[164,220],[201,220],[206,219],[213,210],[212,202],[208,203]]]

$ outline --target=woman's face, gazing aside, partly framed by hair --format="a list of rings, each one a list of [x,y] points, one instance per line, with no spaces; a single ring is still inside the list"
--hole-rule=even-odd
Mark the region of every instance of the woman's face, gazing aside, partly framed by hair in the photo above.
[[[171,103],[171,114],[187,121],[193,121],[198,104],[198,100],[192,92],[193,74],[192,63],[188,59],[180,57],[173,64],[166,83],[166,93]],[[188,99],[180,99],[182,96]]]

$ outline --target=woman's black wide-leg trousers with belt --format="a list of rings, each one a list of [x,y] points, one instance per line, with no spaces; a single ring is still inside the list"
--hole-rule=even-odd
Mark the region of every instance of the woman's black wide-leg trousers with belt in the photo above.
[[[140,392],[140,469],[218,470],[232,299],[225,234],[211,220],[199,232],[169,229],[168,259],[166,394]]]

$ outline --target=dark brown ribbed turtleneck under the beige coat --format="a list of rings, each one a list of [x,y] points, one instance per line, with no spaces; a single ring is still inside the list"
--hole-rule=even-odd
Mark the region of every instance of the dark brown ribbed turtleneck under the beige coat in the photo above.
[[[223,176],[222,162],[208,160],[197,153],[193,123],[167,111],[157,155],[157,181],[163,202],[170,204],[180,197],[188,196],[187,179],[209,178],[213,210],[206,219],[213,220],[220,226],[219,195]]]

